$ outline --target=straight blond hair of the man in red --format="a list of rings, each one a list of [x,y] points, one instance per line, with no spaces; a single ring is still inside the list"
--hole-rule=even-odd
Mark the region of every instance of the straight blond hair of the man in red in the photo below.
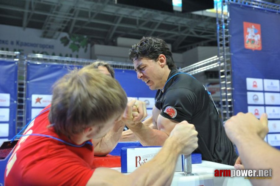
[[[122,114],[126,104],[120,84],[88,65],[54,84],[48,117],[56,133],[69,136]]]

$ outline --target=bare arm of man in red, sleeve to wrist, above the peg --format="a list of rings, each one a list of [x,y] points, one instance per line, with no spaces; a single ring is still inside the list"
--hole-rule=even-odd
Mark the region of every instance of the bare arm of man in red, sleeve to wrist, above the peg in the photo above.
[[[166,144],[151,161],[145,163],[129,175],[121,174],[108,168],[97,168],[87,185],[139,185],[139,186],[163,186],[170,185],[174,175],[174,169],[181,147],[167,139]]]

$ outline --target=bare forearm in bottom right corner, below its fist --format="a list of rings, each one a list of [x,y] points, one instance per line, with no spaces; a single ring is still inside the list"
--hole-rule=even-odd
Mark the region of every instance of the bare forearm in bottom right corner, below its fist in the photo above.
[[[272,179],[250,179],[254,185],[277,185],[280,182],[279,150],[269,146],[258,136],[246,136],[236,145],[245,169],[272,169]]]

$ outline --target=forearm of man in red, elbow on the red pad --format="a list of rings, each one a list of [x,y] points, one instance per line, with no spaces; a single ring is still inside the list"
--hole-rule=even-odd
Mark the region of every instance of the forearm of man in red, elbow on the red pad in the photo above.
[[[118,143],[123,130],[124,123],[117,123],[103,138],[93,140],[94,155],[106,156],[110,153]]]

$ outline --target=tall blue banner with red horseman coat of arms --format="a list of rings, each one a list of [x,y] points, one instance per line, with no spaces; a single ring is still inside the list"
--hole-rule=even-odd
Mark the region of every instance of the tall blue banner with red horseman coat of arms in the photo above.
[[[230,50],[234,114],[268,114],[265,140],[280,149],[280,15],[234,3]]]

